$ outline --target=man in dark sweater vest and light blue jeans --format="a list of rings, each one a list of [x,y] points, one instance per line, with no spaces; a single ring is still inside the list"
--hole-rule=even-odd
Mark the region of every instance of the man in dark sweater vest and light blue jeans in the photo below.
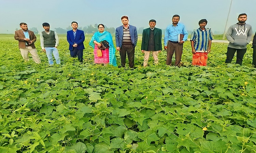
[[[55,31],[50,30],[49,23],[43,23],[45,31],[40,33],[41,47],[48,57],[49,65],[53,65],[53,55],[57,64],[60,64],[59,51],[59,38]],[[53,54],[53,55],[52,55]]]

